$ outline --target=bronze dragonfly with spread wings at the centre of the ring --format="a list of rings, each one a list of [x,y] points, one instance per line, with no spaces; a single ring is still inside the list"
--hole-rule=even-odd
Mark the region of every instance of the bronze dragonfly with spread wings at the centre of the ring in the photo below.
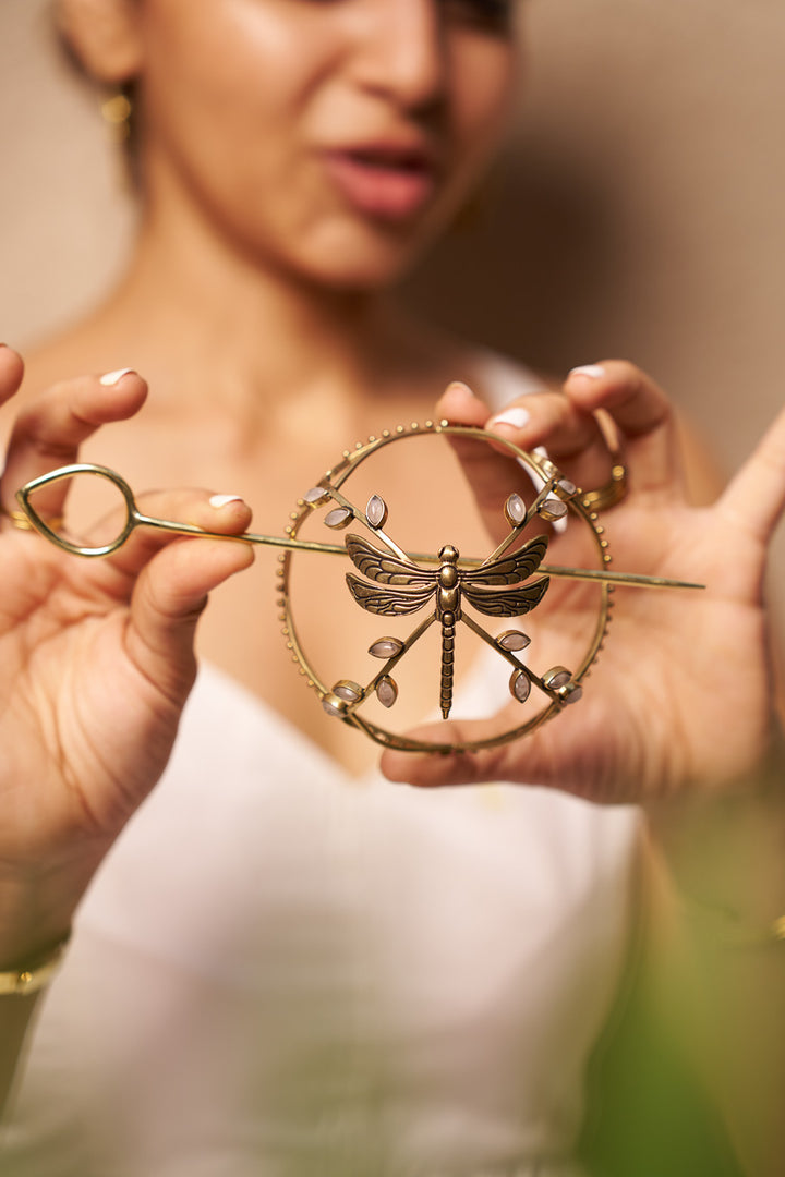
[[[463,598],[466,597],[474,609],[491,617],[527,613],[543,599],[548,578],[540,577],[528,585],[520,581],[539,567],[546,548],[547,539],[538,536],[513,556],[464,570],[458,566],[458,548],[446,544],[439,551],[438,570],[431,570],[388,556],[359,536],[347,536],[346,550],[352,563],[374,584],[351,572],[346,576],[346,584],[358,605],[382,617],[415,613],[435,597],[434,620],[441,625],[439,701],[446,719],[452,707],[455,626],[461,618]],[[492,587],[494,585],[514,587],[497,590]]]

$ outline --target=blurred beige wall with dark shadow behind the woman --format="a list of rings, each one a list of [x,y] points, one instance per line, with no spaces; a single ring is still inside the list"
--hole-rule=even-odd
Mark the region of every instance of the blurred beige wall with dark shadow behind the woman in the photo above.
[[[785,5],[523,2],[514,144],[410,297],[551,372],[634,358],[731,467],[784,399]],[[98,295],[133,221],[47,11],[0,0],[0,335],[20,346]]]

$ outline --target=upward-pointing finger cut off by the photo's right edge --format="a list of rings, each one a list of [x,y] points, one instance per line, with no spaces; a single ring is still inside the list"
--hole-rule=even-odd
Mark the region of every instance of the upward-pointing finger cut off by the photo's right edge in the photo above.
[[[766,543],[785,510],[785,410],[718,500],[730,524]]]

